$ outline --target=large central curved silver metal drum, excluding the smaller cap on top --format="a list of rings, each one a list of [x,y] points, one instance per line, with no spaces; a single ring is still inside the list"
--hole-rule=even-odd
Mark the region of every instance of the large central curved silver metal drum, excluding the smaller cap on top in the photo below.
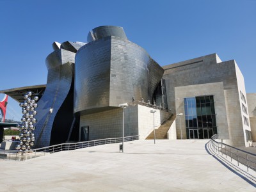
[[[163,72],[142,47],[124,38],[90,42],[76,54],[74,112],[104,111],[132,97],[152,100]]]

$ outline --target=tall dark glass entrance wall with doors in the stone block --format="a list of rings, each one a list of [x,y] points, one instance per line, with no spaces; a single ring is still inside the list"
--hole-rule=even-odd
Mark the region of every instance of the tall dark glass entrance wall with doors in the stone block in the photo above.
[[[187,139],[209,139],[217,133],[213,95],[184,98]]]

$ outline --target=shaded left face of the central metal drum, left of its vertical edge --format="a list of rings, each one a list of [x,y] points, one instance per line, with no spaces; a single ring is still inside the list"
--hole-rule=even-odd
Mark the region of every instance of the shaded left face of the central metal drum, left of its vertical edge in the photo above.
[[[111,38],[86,44],[77,51],[74,112],[109,106]]]

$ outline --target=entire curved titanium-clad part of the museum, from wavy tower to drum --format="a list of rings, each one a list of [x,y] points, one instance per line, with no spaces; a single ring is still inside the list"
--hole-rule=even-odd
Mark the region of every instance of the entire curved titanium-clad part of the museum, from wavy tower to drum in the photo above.
[[[74,126],[83,114],[118,109],[132,98],[153,100],[164,72],[120,27],[93,29],[88,44],[54,42],[52,48],[46,59],[47,86],[38,101],[35,147],[78,140]],[[90,130],[97,132],[97,127]]]

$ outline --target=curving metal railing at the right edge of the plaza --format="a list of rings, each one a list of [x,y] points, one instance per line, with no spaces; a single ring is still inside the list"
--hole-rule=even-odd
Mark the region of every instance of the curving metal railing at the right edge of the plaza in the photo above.
[[[211,145],[218,154],[221,154],[222,156],[224,154],[226,158],[227,156],[230,157],[231,161],[232,159],[236,160],[238,166],[239,163],[244,164],[244,166],[247,167],[247,171],[249,168],[256,171],[256,154],[218,142],[216,141],[217,139],[218,134],[214,134],[214,136],[211,137]]]

